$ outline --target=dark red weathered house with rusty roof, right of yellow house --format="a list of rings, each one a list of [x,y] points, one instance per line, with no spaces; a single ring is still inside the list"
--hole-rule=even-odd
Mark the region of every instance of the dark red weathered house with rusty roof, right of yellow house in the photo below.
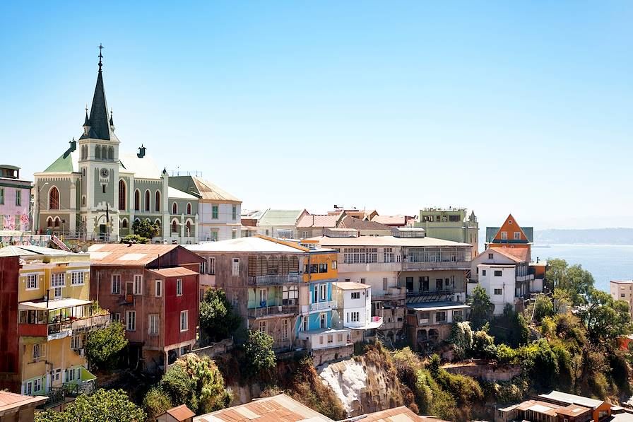
[[[196,343],[202,259],[179,245],[93,245],[90,295],[120,321],[129,359],[166,371]]]

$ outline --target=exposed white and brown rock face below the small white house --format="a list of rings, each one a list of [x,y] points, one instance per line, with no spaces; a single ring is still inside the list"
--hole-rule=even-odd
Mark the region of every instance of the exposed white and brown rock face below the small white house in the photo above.
[[[326,364],[319,368],[319,375],[341,399],[349,417],[404,404],[395,368],[372,358],[371,352]]]

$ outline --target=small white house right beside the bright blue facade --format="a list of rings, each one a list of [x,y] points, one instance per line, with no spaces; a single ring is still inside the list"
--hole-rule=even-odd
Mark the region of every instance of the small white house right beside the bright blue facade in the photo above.
[[[372,317],[372,286],[350,281],[332,283],[332,296],[343,327],[351,329],[352,341],[376,336],[382,317]]]

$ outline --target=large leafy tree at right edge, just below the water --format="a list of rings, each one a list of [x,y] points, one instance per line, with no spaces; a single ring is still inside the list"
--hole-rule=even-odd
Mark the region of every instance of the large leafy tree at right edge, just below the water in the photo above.
[[[581,307],[579,317],[595,342],[615,339],[632,331],[629,305],[622,300],[613,300],[609,293],[592,288],[586,296],[587,304]]]

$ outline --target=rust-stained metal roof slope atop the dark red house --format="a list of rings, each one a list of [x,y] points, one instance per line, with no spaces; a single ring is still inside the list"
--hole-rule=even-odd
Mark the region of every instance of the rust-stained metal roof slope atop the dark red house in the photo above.
[[[179,245],[98,244],[88,248],[93,265],[144,266]]]

